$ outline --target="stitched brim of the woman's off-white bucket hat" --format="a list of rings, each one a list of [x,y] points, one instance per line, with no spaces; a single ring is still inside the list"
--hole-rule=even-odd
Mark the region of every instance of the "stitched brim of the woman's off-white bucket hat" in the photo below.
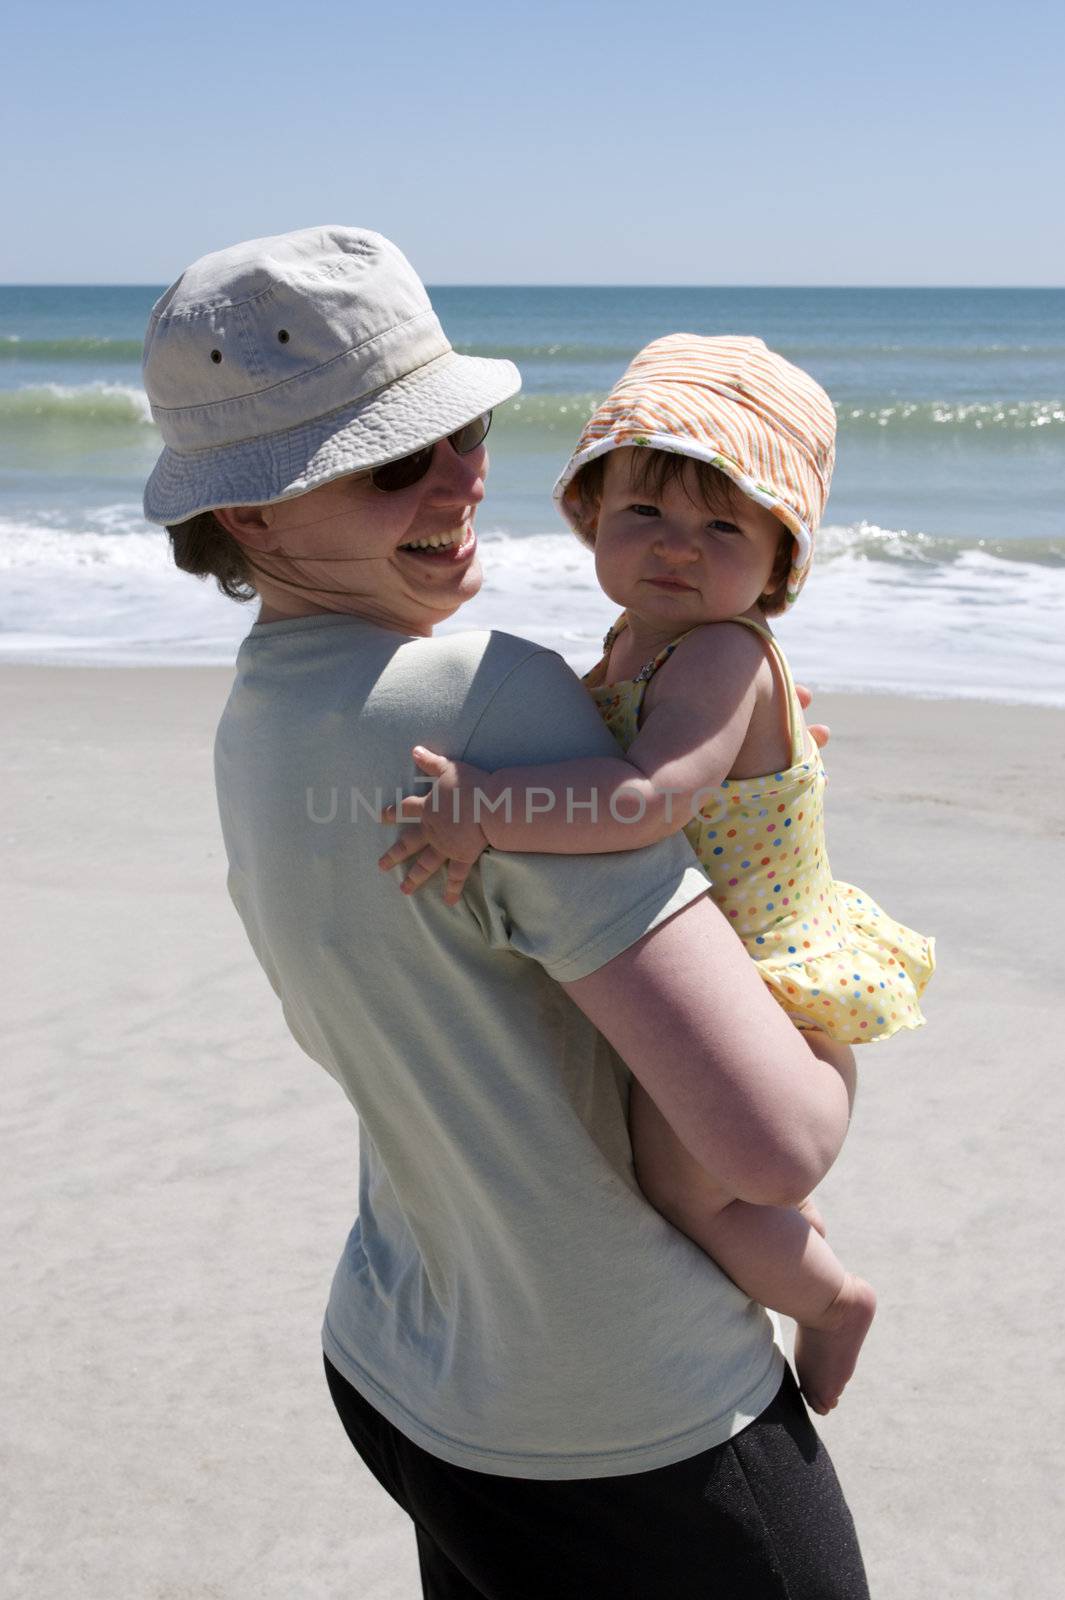
[[[409,456],[521,387],[513,362],[449,350],[406,378],[299,427],[214,450],[166,446],[144,488],[144,515],[185,522],[219,506],[267,506]]]

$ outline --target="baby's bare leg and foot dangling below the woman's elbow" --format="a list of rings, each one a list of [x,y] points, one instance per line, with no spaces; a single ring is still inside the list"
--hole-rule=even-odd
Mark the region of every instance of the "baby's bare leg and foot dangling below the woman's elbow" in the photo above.
[[[744,1293],[796,1320],[800,1384],[814,1411],[830,1411],[873,1320],[876,1296],[870,1285],[843,1269],[798,1206],[756,1206],[732,1198],[689,1155],[636,1082],[630,1131],[636,1178],[648,1200]]]

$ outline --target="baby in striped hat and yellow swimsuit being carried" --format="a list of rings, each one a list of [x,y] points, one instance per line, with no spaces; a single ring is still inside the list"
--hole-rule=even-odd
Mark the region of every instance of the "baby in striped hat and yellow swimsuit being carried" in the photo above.
[[[635,850],[684,829],[710,894],[809,1048],[848,1082],[848,1046],[923,1022],[932,942],[832,877],[825,773],[768,618],[809,571],[835,459],[835,411],[761,339],[673,334],[641,350],[555,488],[624,606],[587,675],[624,757],[485,773],[416,747],[435,779],[387,819],[417,822],[381,859],[403,883],[446,869],[457,901],[494,850]],[[814,1411],[851,1378],[876,1296],[844,1270],[817,1210],[736,1200],[640,1083],[630,1130],[648,1200],[752,1299],[798,1323]]]

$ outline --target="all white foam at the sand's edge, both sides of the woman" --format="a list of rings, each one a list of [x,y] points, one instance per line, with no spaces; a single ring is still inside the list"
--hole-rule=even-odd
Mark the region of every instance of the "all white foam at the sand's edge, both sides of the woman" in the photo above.
[[[592,666],[616,606],[587,552],[564,531],[488,531],[481,554],[485,587],[445,627],[504,629]],[[82,531],[0,522],[0,571],[6,661],[230,664],[254,619],[254,605],[176,571],[136,504],[99,507]],[[817,570],[776,627],[816,688],[1065,706],[1060,562],[825,528]]]

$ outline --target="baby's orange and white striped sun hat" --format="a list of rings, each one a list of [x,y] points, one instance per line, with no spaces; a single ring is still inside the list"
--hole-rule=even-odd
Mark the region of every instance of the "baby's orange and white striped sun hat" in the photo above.
[[[707,461],[774,512],[795,538],[787,586],[788,605],[795,600],[836,451],[836,413],[820,384],[761,339],[672,333],[648,344],[585,422],[555,485],[563,517],[588,546],[593,530],[572,480],[588,461],[625,446]]]

